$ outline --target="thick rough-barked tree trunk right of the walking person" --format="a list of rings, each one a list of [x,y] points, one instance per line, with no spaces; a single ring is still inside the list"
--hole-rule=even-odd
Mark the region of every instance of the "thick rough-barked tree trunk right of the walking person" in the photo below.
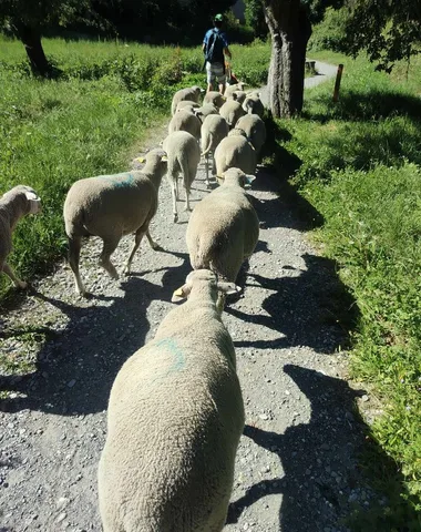
[[[302,110],[307,42],[311,23],[300,0],[263,0],[271,35],[269,106],[276,117]]]

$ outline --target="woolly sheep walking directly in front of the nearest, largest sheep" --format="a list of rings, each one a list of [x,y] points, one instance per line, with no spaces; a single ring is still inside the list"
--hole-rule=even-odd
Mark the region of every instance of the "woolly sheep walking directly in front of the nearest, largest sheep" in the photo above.
[[[235,283],[259,237],[259,221],[244,191],[255,177],[239,168],[227,170],[223,177],[223,185],[193,209],[186,242],[193,269],[208,268]]]

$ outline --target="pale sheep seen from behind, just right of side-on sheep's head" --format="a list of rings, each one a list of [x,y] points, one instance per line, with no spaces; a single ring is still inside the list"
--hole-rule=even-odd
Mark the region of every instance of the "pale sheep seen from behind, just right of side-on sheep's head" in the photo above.
[[[185,211],[191,211],[188,195],[191,185],[196,177],[197,166],[201,162],[201,149],[196,139],[186,131],[176,131],[168,135],[163,147],[168,156],[168,178],[173,196],[174,222],[178,221],[178,174],[183,174],[183,185],[186,191]]]

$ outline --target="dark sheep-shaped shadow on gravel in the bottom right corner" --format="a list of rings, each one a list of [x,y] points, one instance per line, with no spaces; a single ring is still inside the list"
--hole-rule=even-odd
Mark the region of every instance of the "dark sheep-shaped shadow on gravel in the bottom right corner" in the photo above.
[[[284,434],[245,427],[246,437],[279,457],[284,477],[249,487],[230,504],[227,523],[237,522],[243,511],[259,499],[280,493],[279,530],[345,531],[349,530],[351,514],[356,531],[403,532],[404,526],[377,528],[379,520],[370,521],[374,528],[362,525],[361,518],[367,521],[368,507],[376,505],[378,494],[366,488],[368,479],[358,467],[361,453],[370,446],[378,464],[398,472],[397,464],[368,439],[369,428],[358,416],[356,398],[363,390],[355,390],[347,381],[312,369],[287,365],[284,370],[310,401],[309,422],[289,426]],[[402,494],[401,474],[396,475],[396,482]],[[384,508],[382,522],[386,523]]]

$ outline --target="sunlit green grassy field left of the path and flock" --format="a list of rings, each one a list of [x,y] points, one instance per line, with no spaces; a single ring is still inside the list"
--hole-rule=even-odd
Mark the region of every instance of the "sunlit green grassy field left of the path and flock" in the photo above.
[[[62,205],[70,185],[127,168],[142,139],[170,114],[181,86],[206,86],[199,47],[43,41],[59,75],[29,75],[23,45],[0,38],[0,192],[17,184],[40,194],[43,213],[24,218],[10,263],[25,278],[65,253]],[[267,44],[233,45],[238,75],[265,80]],[[10,282],[0,277],[0,299]]]

